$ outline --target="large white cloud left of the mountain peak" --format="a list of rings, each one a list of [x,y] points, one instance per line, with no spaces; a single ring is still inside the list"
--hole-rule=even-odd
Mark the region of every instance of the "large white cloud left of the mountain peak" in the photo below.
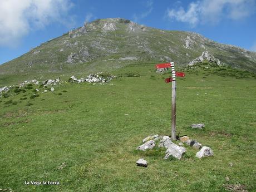
[[[70,0],[1,0],[0,46],[15,46],[29,31],[52,22],[68,24],[72,6]]]

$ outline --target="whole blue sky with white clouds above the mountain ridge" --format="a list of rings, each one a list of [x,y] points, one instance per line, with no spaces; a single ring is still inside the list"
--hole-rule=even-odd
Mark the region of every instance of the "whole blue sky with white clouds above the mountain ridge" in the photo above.
[[[85,21],[121,17],[256,51],[256,0],[0,0],[0,63]]]

